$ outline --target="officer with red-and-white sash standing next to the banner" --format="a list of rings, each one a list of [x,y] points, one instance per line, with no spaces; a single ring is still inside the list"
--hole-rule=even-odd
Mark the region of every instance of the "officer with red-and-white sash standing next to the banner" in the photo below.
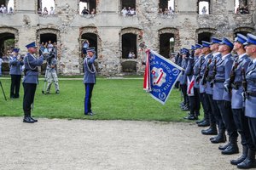
[[[199,58],[197,56],[198,50],[195,52],[196,47],[194,45],[191,46],[191,55],[189,56],[189,63],[185,70],[185,75],[187,76],[187,94],[189,96],[189,104],[190,104],[190,112],[189,116],[184,118],[189,120],[197,120],[200,112],[200,101],[198,90],[195,89],[195,77],[193,67],[195,63],[198,62]]]

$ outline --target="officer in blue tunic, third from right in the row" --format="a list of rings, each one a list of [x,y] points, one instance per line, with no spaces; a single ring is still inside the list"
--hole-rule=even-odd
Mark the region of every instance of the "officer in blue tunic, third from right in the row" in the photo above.
[[[230,77],[230,71],[234,62],[232,54],[230,54],[234,45],[226,37],[219,44],[218,52],[221,53],[221,59],[217,63],[217,73],[214,78],[212,95],[213,99],[217,100],[218,108],[229,135],[229,143],[219,146],[218,149],[222,150],[222,154],[230,155],[239,152],[237,146],[238,133],[231,110],[231,94],[224,91],[224,81]]]

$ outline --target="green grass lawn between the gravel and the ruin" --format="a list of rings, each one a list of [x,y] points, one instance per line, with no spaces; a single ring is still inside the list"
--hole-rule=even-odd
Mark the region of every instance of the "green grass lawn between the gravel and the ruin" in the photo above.
[[[8,101],[3,99],[0,89],[0,116],[23,116],[23,87],[20,86],[20,99],[9,99],[10,79],[2,79]],[[180,92],[172,90],[166,105],[161,105],[143,91],[142,79],[98,78],[92,95],[92,111],[95,116],[84,116],[84,84],[82,80],[60,80],[61,94],[55,94],[54,84],[51,93],[42,94],[44,81],[38,84],[32,116],[67,119],[92,120],[136,120],[186,122],[181,111]]]

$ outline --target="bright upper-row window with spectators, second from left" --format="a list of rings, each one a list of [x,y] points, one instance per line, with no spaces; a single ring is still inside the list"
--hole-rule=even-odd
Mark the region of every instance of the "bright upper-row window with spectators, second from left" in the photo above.
[[[55,0],[38,0],[38,14],[55,15]]]

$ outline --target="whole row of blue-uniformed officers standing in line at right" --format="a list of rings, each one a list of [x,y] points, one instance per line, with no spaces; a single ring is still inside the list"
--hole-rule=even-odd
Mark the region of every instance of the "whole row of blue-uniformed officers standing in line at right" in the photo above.
[[[236,55],[232,55],[231,52]],[[234,42],[212,37],[211,42],[182,48],[184,69],[180,84],[184,102],[189,105],[189,120],[198,120],[201,106],[204,119],[197,121],[202,134],[210,138],[223,155],[242,153],[232,165],[247,169],[255,167],[256,150],[256,36],[237,34]],[[226,138],[227,132],[228,138]]]

